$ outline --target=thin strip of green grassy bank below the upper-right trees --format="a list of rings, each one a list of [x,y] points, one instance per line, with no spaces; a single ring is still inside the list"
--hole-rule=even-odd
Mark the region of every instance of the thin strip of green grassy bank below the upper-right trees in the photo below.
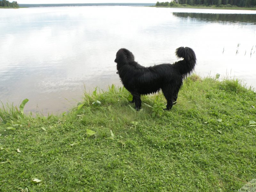
[[[164,8],[193,8],[193,9],[234,9],[234,10],[256,10],[256,7],[217,7],[212,6],[192,6],[187,4],[176,4],[175,6],[153,6],[153,7],[164,7]]]

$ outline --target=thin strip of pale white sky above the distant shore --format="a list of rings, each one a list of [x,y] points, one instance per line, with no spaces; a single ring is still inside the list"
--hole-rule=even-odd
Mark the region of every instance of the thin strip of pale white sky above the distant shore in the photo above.
[[[16,0],[18,4],[156,3],[157,0]]]

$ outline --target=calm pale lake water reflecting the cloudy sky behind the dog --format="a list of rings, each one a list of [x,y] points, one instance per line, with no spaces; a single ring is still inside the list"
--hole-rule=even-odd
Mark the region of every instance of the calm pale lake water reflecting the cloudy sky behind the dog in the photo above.
[[[256,87],[256,11],[128,6],[0,9],[0,100],[61,113],[93,87],[121,85],[115,55],[141,65],[174,62],[189,46],[200,76]]]

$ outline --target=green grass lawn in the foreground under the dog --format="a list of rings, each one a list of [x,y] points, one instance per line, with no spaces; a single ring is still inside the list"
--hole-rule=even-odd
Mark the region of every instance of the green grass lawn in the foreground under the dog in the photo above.
[[[256,93],[238,80],[193,75],[161,116],[128,98],[111,86],[61,116],[2,107],[0,191],[237,191],[256,178]]]

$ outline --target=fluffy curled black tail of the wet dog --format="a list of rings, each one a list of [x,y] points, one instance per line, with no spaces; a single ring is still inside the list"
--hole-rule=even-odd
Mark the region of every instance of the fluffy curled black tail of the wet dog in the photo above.
[[[183,58],[174,63],[174,67],[177,68],[184,77],[192,73],[196,65],[196,54],[193,49],[189,47],[179,47],[176,49],[176,56]]]

